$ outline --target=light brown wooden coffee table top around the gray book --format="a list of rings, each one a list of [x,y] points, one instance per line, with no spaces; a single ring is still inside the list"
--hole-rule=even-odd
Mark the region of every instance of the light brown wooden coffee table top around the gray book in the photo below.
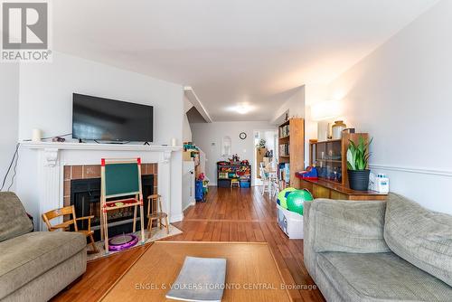
[[[226,259],[226,283],[206,284],[224,288],[222,302],[292,300],[291,285],[285,283],[265,242],[156,241],[150,245],[100,298],[102,302],[169,301],[165,295],[186,256]],[[182,287],[196,291],[199,284],[190,282]]]

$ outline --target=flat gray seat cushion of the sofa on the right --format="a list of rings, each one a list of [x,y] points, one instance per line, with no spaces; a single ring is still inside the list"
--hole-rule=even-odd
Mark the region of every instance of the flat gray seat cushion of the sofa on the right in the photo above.
[[[392,252],[318,254],[344,301],[450,301],[452,288]]]

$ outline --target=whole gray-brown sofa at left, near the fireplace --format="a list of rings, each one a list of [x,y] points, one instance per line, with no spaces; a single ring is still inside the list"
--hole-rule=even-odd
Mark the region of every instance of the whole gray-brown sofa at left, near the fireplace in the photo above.
[[[34,231],[14,193],[0,193],[0,301],[47,301],[86,270],[86,238]]]

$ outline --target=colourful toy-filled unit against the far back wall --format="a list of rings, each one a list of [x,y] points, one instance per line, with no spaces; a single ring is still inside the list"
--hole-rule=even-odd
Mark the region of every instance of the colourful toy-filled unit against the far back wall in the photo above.
[[[235,155],[229,161],[217,163],[217,185],[220,188],[250,188],[251,165],[248,160],[240,161]]]

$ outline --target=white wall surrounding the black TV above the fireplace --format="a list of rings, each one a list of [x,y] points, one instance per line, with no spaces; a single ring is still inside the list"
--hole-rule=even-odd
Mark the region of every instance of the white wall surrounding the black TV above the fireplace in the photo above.
[[[183,141],[183,87],[95,61],[54,52],[52,63],[23,64],[20,71],[19,138],[71,133],[72,93],[154,106],[154,144]],[[182,153],[171,162],[172,215],[182,212]]]

